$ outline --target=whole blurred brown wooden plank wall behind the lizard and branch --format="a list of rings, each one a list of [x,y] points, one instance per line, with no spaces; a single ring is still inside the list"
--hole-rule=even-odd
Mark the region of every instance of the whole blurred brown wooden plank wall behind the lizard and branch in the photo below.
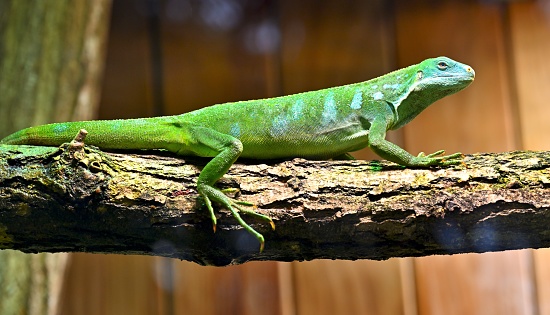
[[[550,149],[547,0],[116,0],[98,118],[364,81],[439,55],[471,65],[474,84],[392,141],[415,154]],[[549,263],[549,250],[226,268],[74,254],[62,314],[550,314]]]

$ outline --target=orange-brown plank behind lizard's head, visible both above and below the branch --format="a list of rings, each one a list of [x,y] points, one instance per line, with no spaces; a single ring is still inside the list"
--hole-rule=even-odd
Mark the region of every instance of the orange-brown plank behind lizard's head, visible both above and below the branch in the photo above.
[[[447,55],[476,70],[471,87],[405,127],[406,148],[427,153],[516,148],[499,4],[400,2],[397,12],[400,65]],[[416,260],[419,313],[529,314],[534,292],[522,285],[529,277],[522,262],[529,259],[520,251]]]

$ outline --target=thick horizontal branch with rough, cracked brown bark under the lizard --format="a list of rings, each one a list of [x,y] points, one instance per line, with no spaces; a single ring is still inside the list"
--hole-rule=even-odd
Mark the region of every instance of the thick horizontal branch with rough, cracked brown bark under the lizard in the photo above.
[[[93,148],[0,146],[0,245],[24,252],[249,260],[388,259],[550,247],[550,152],[475,154],[453,167],[379,161],[245,161],[219,182],[274,218],[225,209],[218,229],[195,190],[207,162]]]

